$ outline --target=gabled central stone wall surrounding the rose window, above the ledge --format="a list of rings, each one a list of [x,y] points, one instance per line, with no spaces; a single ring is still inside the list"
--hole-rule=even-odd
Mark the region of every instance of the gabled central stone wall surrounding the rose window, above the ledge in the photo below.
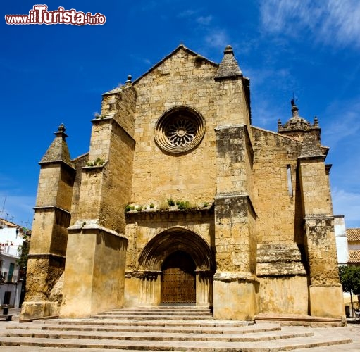
[[[135,82],[134,179],[131,202],[161,205],[166,199],[190,201],[194,205],[212,202],[216,191],[215,133],[217,66],[180,49]],[[190,106],[206,120],[201,144],[190,153],[168,155],[154,142],[156,121],[169,108]]]

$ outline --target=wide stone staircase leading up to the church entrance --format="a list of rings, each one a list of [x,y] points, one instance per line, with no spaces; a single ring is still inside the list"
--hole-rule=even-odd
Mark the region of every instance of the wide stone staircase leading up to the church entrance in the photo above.
[[[0,351],[261,352],[334,345],[340,351],[351,339],[337,329],[213,320],[209,309],[197,307],[128,308],[87,319],[1,323]]]

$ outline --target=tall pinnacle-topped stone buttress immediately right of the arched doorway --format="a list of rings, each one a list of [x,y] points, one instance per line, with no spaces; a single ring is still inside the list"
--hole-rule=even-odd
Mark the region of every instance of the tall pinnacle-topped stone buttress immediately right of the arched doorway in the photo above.
[[[252,143],[249,80],[244,78],[231,46],[215,77],[216,99],[216,274],[213,315],[216,319],[253,320],[258,310],[256,213],[252,204]]]

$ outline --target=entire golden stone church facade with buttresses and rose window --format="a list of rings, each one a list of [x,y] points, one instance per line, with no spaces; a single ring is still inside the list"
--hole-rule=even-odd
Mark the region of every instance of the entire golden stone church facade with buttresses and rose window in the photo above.
[[[256,118],[256,117],[255,117]],[[39,175],[20,319],[190,304],[223,320],[344,316],[318,120],[252,125],[249,79],[178,46],[65,127]]]

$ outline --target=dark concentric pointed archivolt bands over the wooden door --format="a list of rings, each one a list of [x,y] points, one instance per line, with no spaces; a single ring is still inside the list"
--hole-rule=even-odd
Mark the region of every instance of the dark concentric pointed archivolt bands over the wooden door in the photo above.
[[[161,271],[163,261],[175,251],[190,254],[197,267],[196,270],[213,272],[215,269],[209,244],[196,232],[175,226],[157,234],[144,246],[139,256],[140,270]]]

